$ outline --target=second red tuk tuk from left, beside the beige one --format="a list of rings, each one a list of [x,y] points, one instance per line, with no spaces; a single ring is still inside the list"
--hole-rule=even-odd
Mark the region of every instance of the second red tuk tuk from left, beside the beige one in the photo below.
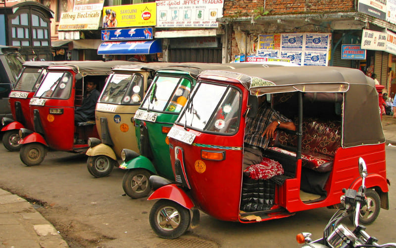
[[[130,63],[77,61],[49,66],[29,103],[34,130],[19,130],[21,161],[27,166],[39,165],[49,148],[85,153],[88,137],[99,137],[95,120],[74,121],[75,107],[82,105],[86,83],[96,82],[100,92],[112,67]]]

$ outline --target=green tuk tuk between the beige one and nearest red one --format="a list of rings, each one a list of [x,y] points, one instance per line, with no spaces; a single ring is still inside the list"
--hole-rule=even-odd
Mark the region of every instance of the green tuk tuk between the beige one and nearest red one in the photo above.
[[[123,149],[121,152],[124,162],[119,168],[128,170],[124,174],[122,187],[128,196],[147,196],[151,191],[148,182],[150,175],[174,178],[166,135],[187,102],[198,74],[205,69],[247,66],[263,68],[272,65],[180,63],[156,71],[148,93],[134,116],[140,155],[137,150]]]

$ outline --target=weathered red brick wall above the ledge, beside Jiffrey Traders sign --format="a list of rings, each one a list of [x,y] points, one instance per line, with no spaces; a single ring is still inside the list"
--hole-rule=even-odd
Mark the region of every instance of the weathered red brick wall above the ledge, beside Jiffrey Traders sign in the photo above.
[[[224,0],[224,16],[248,16],[263,5],[264,0]],[[265,10],[269,14],[356,11],[354,0],[266,0]]]

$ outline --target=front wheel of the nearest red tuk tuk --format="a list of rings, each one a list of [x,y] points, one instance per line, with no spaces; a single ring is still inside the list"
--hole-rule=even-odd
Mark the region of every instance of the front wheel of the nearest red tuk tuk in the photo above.
[[[151,208],[149,222],[152,230],[159,237],[176,239],[187,231],[190,218],[190,210],[187,208],[174,201],[160,199]]]

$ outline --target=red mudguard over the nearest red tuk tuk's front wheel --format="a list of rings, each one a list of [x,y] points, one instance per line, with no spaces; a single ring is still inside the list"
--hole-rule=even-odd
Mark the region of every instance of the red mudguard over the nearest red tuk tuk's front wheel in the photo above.
[[[147,199],[168,199],[179,203],[187,209],[192,209],[194,207],[194,203],[191,198],[182,188],[180,188],[176,184],[165,185],[158,188],[150,196],[148,196]]]

